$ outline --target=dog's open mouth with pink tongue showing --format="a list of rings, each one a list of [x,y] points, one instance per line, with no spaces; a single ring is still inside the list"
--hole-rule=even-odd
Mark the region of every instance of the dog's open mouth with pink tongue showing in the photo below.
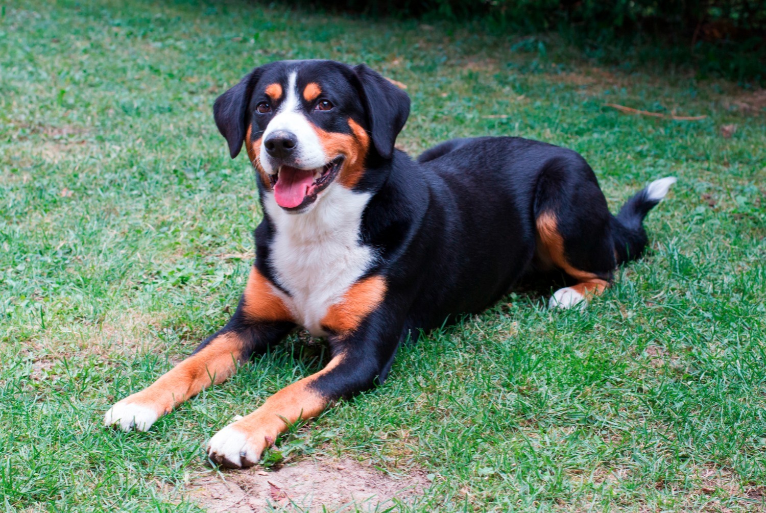
[[[281,165],[276,175],[271,175],[274,199],[285,210],[298,210],[313,201],[338,175],[343,156],[316,169],[299,169]]]

